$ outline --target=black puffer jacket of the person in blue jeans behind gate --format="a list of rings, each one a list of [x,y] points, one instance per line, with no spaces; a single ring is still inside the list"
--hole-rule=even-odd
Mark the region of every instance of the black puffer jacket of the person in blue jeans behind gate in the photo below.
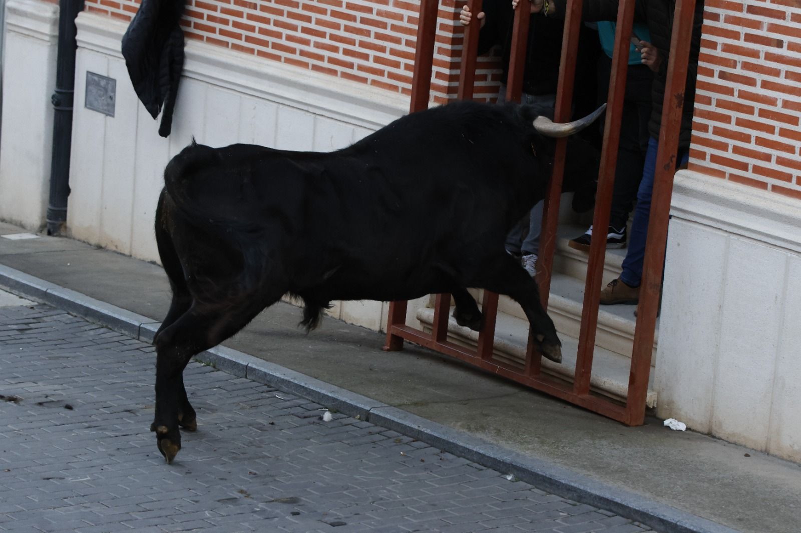
[[[583,0],[582,18],[588,22],[604,20],[617,20],[618,0]],[[556,14],[562,17],[565,14],[567,0],[553,0],[556,4]],[[659,126],[662,123],[662,102],[665,99],[665,86],[667,82],[667,62],[670,53],[670,36],[673,32],[673,13],[676,7],[675,0],[637,0],[634,20],[645,22],[651,34],[651,42],[659,50],[662,58],[658,72],[654,75],[651,88],[651,118],[648,130],[653,138],[659,137]],[[703,24],[704,0],[695,2],[695,18],[693,22],[692,42],[690,43],[690,63],[687,68],[687,82],[684,91],[684,110],[682,114],[682,129],[678,140],[680,148],[690,146],[692,133],[693,107],[695,101],[695,78],[698,75],[698,50],[701,48],[701,26]]]

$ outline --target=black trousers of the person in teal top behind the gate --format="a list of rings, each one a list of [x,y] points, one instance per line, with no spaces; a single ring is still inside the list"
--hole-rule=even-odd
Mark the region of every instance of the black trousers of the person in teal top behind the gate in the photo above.
[[[612,60],[601,54],[598,60],[600,102],[606,102]],[[648,150],[648,121],[651,113],[651,82],[653,73],[645,65],[630,65],[626,72],[626,97],[620,118],[620,146],[614,173],[614,193],[610,209],[610,226],[621,229],[629,221],[634,198],[642,178],[642,167]],[[603,232],[601,232],[603,233]]]

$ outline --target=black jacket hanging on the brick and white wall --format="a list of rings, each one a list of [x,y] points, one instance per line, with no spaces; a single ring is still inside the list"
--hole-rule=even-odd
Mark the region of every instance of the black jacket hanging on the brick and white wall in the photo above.
[[[139,100],[153,118],[163,106],[159,135],[167,137],[183,70],[185,0],[142,0],[123,35],[123,57]]]

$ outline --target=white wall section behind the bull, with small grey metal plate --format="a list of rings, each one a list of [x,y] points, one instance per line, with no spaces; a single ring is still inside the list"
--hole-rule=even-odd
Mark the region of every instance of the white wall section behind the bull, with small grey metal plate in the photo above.
[[[78,16],[67,210],[71,236],[123,254],[159,260],[153,224],[164,166],[193,136],[210,146],[336,150],[409,106],[406,97],[360,83],[190,41],[172,133],[161,138],[159,121],[136,98],[119,51],[126,27],[95,14]],[[114,117],[85,108],[87,71],[117,81]],[[411,303],[409,317],[427,301]],[[378,331],[386,326],[387,310],[387,303],[343,302],[329,315]]]

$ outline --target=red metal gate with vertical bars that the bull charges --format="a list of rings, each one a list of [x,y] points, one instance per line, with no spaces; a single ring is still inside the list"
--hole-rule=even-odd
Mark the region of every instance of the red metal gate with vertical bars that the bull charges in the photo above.
[[[493,0],[494,1],[494,0]],[[522,0],[521,7],[527,8]],[[630,38],[634,22],[635,0],[621,0],[618,7],[617,34],[610,78],[606,125],[602,146],[601,170],[598,175],[598,192],[593,226],[609,226],[610,205],[614,186],[616,154],[620,137],[619,117],[622,113],[626,88],[626,69]],[[481,0],[469,0],[473,14],[481,11]],[[529,343],[525,353],[525,365],[512,364],[493,359],[493,340],[497,315],[497,295],[485,291],[482,313],[485,324],[478,335],[476,350],[449,342],[448,320],[450,295],[437,295],[434,307],[432,333],[409,327],[406,321],[406,302],[392,302],[389,307],[386,351],[400,350],[404,339],[451,355],[474,366],[491,371],[517,383],[543,391],[570,403],[590,409],[601,415],[630,426],[642,424],[645,418],[646,394],[650,375],[650,359],[653,351],[654,331],[662,285],[662,263],[665,256],[667,222],[670,211],[670,194],[673,188],[674,161],[678,151],[678,134],[681,126],[682,104],[686,81],[687,62],[690,50],[695,0],[678,0],[674,12],[674,26],[667,66],[665,102],[662,111],[662,129],[659,132],[657,172],[651,200],[650,224],[643,266],[642,284],[638,305],[638,319],[634,331],[634,351],[631,357],[630,379],[625,403],[619,403],[590,391],[595,333],[598,325],[598,305],[602,285],[603,264],[606,254],[604,239],[594,238],[590,246],[590,258],[586,274],[582,324],[578,339],[578,355],[574,382],[568,383],[546,374],[541,369],[541,355]],[[429,105],[431,73],[433,64],[434,37],[437,30],[438,0],[421,0],[420,22],[417,30],[417,55],[413,75],[412,102],[410,112],[423,110]],[[562,42],[562,62],[557,88],[555,122],[570,120],[570,102],[573,98],[578,34],[582,25],[582,0],[568,0],[565,17],[565,33]],[[509,59],[507,99],[519,102],[522,74],[525,61],[525,42],[529,30],[528,9],[518,9],[513,26],[513,50]],[[476,66],[478,24],[465,30],[465,44],[461,55],[461,74],[458,98],[473,97],[473,78]],[[537,283],[539,283],[543,306],[547,309],[553,254],[556,249],[556,227],[559,199],[562,190],[562,175],[565,165],[566,140],[557,141],[553,164],[553,175],[545,198],[540,254],[537,259]]]

